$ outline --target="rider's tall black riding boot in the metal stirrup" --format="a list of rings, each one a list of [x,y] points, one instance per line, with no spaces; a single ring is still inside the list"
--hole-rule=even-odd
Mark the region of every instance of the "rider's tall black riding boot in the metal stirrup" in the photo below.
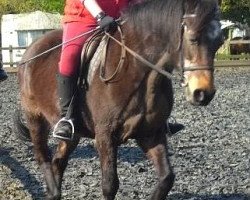
[[[76,91],[76,78],[58,74],[57,84],[62,118],[55,125],[53,136],[63,140],[72,140],[74,137],[74,117],[72,116],[74,101],[72,98]]]

